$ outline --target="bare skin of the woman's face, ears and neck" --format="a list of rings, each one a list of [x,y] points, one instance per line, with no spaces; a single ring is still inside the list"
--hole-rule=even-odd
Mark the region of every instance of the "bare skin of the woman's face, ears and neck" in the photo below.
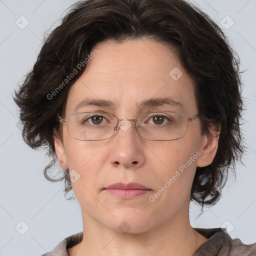
[[[104,41],[95,48],[98,53],[69,90],[63,117],[74,113],[73,108],[85,97],[111,100],[115,106],[86,106],[78,111],[105,111],[118,118],[158,110],[187,116],[198,113],[193,81],[174,50],[148,38],[118,44]],[[178,80],[169,75],[174,67],[183,73]],[[158,97],[169,97],[184,106],[136,107],[144,99]],[[218,136],[202,136],[199,118],[187,123],[182,138],[170,141],[142,139],[132,121],[126,131],[119,129],[112,138],[101,141],[71,138],[66,123],[62,132],[62,141],[55,138],[55,152],[63,161],[61,167],[75,169],[80,175],[72,186],[83,220],[83,240],[68,250],[69,255],[187,256],[207,240],[189,223],[189,196],[196,166],[212,162]],[[197,151],[200,156],[150,202],[148,197]],[[120,199],[103,190],[115,182],[138,182],[151,191]],[[130,226],[126,233],[118,228],[123,221]]]

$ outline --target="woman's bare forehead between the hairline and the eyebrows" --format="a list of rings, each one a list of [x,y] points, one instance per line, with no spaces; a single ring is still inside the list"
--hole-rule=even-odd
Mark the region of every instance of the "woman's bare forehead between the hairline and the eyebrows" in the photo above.
[[[104,41],[95,48],[98,53],[69,90],[66,113],[78,110],[79,104],[85,107],[82,101],[100,100],[101,108],[105,101],[105,107],[111,110],[136,111],[151,107],[160,98],[169,101],[168,107],[174,110],[196,107],[193,82],[170,47],[143,38],[122,43]],[[147,104],[149,99],[151,105]]]

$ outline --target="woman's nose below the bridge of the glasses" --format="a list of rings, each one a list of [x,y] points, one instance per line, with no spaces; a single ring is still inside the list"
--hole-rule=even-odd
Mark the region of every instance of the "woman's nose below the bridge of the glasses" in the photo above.
[[[135,119],[119,119],[111,138],[109,160],[114,167],[138,168],[144,163],[144,143],[135,130]]]

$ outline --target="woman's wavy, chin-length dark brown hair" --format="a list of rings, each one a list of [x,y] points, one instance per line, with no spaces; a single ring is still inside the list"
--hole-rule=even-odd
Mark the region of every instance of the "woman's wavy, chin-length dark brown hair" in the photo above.
[[[142,37],[176,49],[196,84],[201,134],[221,124],[216,156],[210,165],[196,168],[190,196],[202,207],[214,204],[244,150],[239,58],[218,25],[186,1],[85,0],[73,4],[61,24],[44,39],[32,70],[15,91],[23,139],[32,148],[48,148],[52,159],[44,176],[51,181],[64,180],[65,194],[71,190],[68,169],[58,179],[49,177],[47,171],[56,163],[53,132],[59,130],[57,114],[61,115],[68,90],[86,64],[64,85],[63,81],[78,63],[84,63],[97,42]],[[59,84],[63,86],[56,91]],[[54,96],[49,96],[53,91]]]

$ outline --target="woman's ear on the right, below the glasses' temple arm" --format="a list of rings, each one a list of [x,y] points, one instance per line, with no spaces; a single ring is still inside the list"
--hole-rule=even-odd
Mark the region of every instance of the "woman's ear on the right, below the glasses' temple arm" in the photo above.
[[[210,129],[209,135],[203,135],[200,148],[200,156],[197,158],[196,166],[204,167],[212,163],[218,148],[220,125],[216,130]]]

